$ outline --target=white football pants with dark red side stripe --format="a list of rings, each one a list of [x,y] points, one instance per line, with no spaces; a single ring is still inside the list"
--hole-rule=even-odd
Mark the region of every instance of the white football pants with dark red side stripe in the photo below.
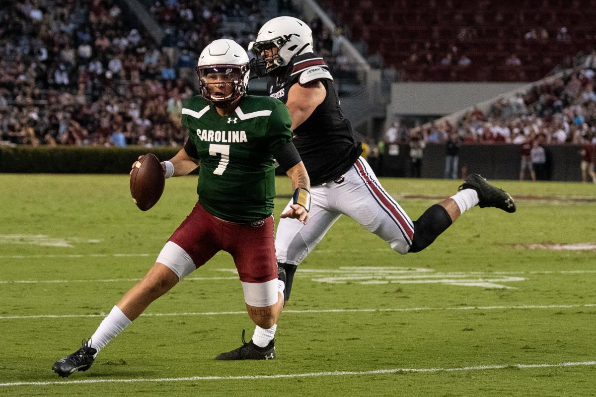
[[[358,158],[336,181],[340,183],[331,181],[311,187],[311,219],[306,225],[290,218],[280,220],[275,233],[277,261],[300,264],[342,215],[381,237],[395,251],[406,254],[412,245],[414,224],[383,189],[368,162]],[[290,204],[291,200],[284,212]]]

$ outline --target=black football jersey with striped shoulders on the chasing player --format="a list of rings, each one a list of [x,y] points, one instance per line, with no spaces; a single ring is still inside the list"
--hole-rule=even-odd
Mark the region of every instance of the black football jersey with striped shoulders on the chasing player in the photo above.
[[[312,186],[337,179],[358,159],[362,145],[354,139],[352,124],[343,115],[327,64],[323,58],[309,52],[291,60],[284,69],[279,76],[270,76],[267,85],[269,96],[284,104],[288,101],[290,87],[301,81],[319,80],[327,90],[325,100],[311,117],[294,130],[293,140]]]

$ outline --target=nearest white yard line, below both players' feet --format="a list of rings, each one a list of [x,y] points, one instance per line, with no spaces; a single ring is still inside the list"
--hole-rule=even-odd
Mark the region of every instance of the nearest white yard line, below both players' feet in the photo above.
[[[241,375],[241,376],[189,376],[176,378],[128,378],[128,379],[82,379],[82,380],[58,380],[52,382],[8,382],[0,383],[0,387],[8,386],[49,386],[49,385],[84,385],[87,383],[133,383],[133,382],[196,382],[198,380],[260,380],[260,379],[292,379],[292,378],[314,378],[322,376],[362,376],[362,375],[385,375],[403,373],[435,373],[435,372],[463,372],[463,371],[488,371],[505,370],[510,368],[557,368],[557,367],[580,367],[596,365],[596,361],[571,361],[559,362],[556,364],[496,364],[496,365],[475,365],[473,367],[457,368],[387,368],[371,371],[324,371],[299,374],[274,374],[274,375]]]

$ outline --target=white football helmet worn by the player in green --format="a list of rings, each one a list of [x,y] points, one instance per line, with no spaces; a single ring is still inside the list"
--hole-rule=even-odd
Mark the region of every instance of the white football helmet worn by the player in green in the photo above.
[[[249,86],[249,55],[234,40],[209,43],[199,55],[195,70],[201,95],[216,107],[227,107]]]

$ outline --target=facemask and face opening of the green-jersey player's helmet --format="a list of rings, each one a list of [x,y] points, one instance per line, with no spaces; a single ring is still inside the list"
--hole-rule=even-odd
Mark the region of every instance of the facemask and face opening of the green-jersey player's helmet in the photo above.
[[[244,95],[247,85],[244,79],[249,65],[202,65],[195,68],[201,95],[218,108],[226,108]]]

